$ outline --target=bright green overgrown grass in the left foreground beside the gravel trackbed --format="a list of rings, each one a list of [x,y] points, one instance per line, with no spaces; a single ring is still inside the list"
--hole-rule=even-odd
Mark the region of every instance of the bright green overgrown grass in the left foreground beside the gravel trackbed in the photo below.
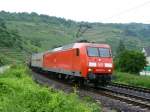
[[[0,112],[99,112],[97,104],[80,100],[32,81],[23,66],[12,66],[0,74]]]

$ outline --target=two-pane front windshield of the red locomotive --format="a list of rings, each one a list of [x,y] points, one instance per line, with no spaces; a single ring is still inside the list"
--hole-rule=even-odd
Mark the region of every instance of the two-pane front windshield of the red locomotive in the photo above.
[[[92,57],[111,57],[110,49],[108,48],[88,47],[87,52],[88,56]]]

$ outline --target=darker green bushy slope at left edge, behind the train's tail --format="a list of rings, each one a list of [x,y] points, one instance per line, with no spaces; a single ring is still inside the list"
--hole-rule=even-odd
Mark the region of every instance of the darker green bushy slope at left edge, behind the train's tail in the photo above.
[[[31,52],[36,51],[36,48],[36,46],[31,45],[30,41],[21,37],[16,30],[8,29],[6,22],[0,19],[0,65],[18,60],[20,62],[25,61]]]

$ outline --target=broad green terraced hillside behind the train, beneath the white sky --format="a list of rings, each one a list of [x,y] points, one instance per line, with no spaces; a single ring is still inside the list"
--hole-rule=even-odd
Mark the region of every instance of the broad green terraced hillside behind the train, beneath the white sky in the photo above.
[[[25,53],[26,51],[30,53],[44,51],[80,39],[108,43],[112,46],[114,54],[120,39],[129,49],[139,50],[150,44],[150,25],[148,24],[75,22],[36,13],[4,11],[0,12],[0,19],[5,21],[9,31],[14,30],[21,37],[21,43],[17,46],[21,45],[20,51],[25,51]],[[16,50],[16,47],[12,49]]]

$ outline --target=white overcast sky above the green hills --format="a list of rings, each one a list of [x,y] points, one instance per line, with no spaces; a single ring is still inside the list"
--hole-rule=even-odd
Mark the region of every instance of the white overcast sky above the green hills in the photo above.
[[[36,12],[76,21],[150,23],[150,0],[0,0],[0,10]]]

